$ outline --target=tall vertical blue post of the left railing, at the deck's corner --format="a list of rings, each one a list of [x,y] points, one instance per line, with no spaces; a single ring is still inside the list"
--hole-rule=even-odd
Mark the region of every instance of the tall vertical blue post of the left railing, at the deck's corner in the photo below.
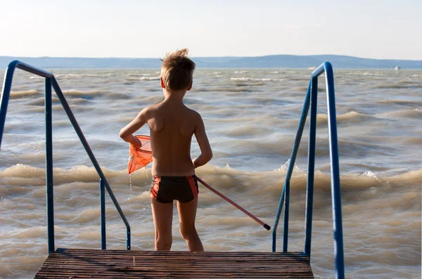
[[[46,77],[46,199],[47,238],[49,253],[54,252],[54,198],[53,198],[53,121],[51,109],[51,77]]]

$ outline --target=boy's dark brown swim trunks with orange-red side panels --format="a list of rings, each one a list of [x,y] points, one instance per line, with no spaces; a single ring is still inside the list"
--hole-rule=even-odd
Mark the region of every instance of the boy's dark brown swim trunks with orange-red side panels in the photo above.
[[[152,197],[162,203],[178,200],[191,202],[198,195],[196,176],[154,176],[151,186]]]

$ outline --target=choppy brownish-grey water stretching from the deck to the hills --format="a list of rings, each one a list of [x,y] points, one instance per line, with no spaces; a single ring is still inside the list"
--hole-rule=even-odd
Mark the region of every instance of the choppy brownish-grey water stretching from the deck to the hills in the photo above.
[[[53,72],[132,226],[133,249],[153,249],[151,169],[129,182],[128,146],[118,132],[163,99],[158,69]],[[186,105],[203,115],[215,155],[198,176],[271,226],[310,73],[199,69],[186,95]],[[311,264],[316,277],[333,278],[324,79],[319,83]],[[335,70],[335,89],[347,278],[421,278],[422,71]],[[44,79],[17,70],[12,90],[0,152],[0,277],[31,278],[47,253]],[[57,98],[53,141],[56,247],[99,248],[98,176]],[[290,251],[303,249],[306,155],[307,129],[291,181]],[[124,249],[124,225],[107,203],[108,248]],[[207,250],[271,251],[270,232],[203,187],[197,222]],[[185,250],[178,227],[175,215],[173,249]]]

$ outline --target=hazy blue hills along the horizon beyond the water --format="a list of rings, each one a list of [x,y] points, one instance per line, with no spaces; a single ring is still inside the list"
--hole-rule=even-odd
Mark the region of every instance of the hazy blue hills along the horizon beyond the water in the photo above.
[[[0,56],[0,68],[6,68],[12,60],[41,67],[44,69],[58,68],[159,68],[158,58],[53,58],[53,57],[11,57]],[[383,60],[357,58],[353,56],[256,56],[256,57],[195,57],[197,67],[236,68],[236,67],[277,67],[277,68],[309,68],[317,67],[325,61],[331,62],[335,68],[371,68],[422,69],[422,60]]]

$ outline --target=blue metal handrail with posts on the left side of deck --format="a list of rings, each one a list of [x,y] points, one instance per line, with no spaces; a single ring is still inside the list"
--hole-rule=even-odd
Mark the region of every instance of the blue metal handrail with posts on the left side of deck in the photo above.
[[[54,211],[53,211],[53,136],[52,136],[52,117],[51,117],[51,87],[53,87],[54,91],[56,91],[56,95],[60,100],[60,103],[63,105],[63,108],[72,123],[73,128],[76,131],[79,140],[81,141],[82,145],[84,145],[85,151],[89,156],[92,164],[94,164],[94,168],[97,171],[98,176],[100,176],[100,204],[101,204],[101,249],[106,249],[106,200],[105,200],[105,190],[107,189],[108,195],[110,195],[111,200],[113,200],[113,204],[115,205],[117,212],[119,212],[120,217],[122,218],[124,225],[126,226],[126,235],[127,235],[127,242],[126,247],[128,250],[131,248],[131,235],[130,235],[130,226],[129,222],[124,216],[122,208],[117,202],[117,199],[111,190],[110,185],[104,176],[103,171],[101,170],[100,165],[98,164],[94,153],[92,153],[91,148],[87,142],[87,139],[82,132],[82,129],[79,127],[75,115],[73,115],[72,110],[68,102],[66,101],[63,92],[58,86],[56,78],[51,72],[47,72],[45,70],[41,70],[37,67],[33,67],[31,65],[25,64],[18,60],[13,60],[9,63],[6,72],[4,74],[4,84],[3,90],[1,92],[1,99],[0,99],[0,146],[1,146],[1,139],[3,138],[4,132],[4,123],[6,122],[6,112],[8,107],[8,100],[11,94],[11,86],[12,86],[12,79],[13,73],[15,72],[15,68],[20,70],[24,70],[25,72],[31,72],[32,74],[37,74],[40,77],[46,78],[46,85],[45,85],[45,109],[46,109],[46,198],[47,198],[47,241],[49,247],[49,253],[54,252]]]

